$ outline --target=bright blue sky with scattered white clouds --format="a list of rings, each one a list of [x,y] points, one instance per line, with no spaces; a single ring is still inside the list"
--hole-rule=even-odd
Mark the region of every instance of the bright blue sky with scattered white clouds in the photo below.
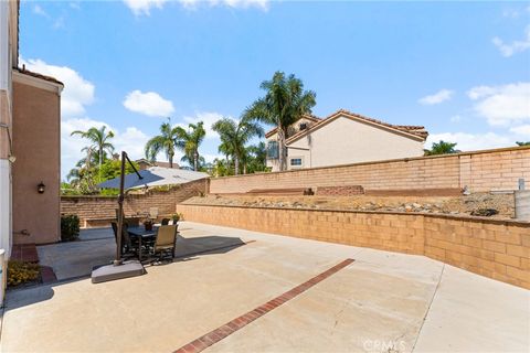
[[[106,124],[135,158],[166,117],[239,117],[275,71],[346,108],[423,125],[426,147],[530,140],[528,2],[23,1],[21,63],[65,83],[62,174]],[[212,131],[201,148],[218,154]]]

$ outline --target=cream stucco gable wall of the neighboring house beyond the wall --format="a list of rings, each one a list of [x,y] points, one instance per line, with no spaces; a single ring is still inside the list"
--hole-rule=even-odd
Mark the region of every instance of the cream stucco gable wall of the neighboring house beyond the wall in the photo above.
[[[423,156],[423,141],[347,117],[289,143],[290,158],[304,158],[303,168],[338,165]]]

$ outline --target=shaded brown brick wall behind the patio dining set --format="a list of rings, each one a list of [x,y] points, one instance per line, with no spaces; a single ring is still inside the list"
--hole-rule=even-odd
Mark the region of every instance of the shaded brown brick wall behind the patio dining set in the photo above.
[[[160,215],[176,213],[177,203],[192,196],[204,194],[208,189],[208,179],[173,186],[169,191],[148,191],[146,194],[129,194],[124,203],[126,216],[146,214],[150,207],[158,207]],[[82,227],[109,225],[107,222],[96,222],[116,217],[118,207],[116,196],[62,196],[61,214],[76,214]],[[91,221],[92,220],[92,221]]]

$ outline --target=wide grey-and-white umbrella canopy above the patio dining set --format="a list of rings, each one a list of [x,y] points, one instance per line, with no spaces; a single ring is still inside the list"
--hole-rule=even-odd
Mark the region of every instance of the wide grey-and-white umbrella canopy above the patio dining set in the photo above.
[[[178,185],[190,181],[208,178],[206,173],[183,169],[151,167],[138,173],[126,174],[124,189],[138,189],[146,186]],[[115,178],[99,183],[102,189],[119,189],[120,178]]]

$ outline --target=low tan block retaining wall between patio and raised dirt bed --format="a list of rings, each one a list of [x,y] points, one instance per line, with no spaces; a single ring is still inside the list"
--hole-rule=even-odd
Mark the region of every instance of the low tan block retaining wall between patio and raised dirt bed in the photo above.
[[[391,212],[177,205],[187,221],[425,255],[530,289],[530,223]]]

